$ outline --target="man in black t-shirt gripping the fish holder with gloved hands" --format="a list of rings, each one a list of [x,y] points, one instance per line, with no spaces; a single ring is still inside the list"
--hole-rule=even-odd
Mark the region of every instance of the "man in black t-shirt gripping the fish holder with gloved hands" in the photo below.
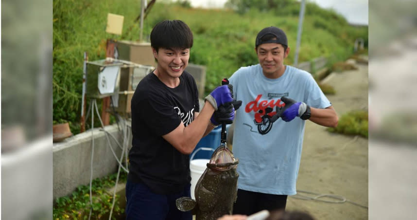
[[[157,66],[139,82],[131,101],[126,219],[191,220],[191,212],[175,206],[177,198],[190,197],[189,154],[220,122],[234,118],[226,85],[213,90],[200,111],[197,86],[184,71],[192,42],[190,28],[180,20],[162,21],[151,32]],[[218,109],[226,111],[213,114]]]

